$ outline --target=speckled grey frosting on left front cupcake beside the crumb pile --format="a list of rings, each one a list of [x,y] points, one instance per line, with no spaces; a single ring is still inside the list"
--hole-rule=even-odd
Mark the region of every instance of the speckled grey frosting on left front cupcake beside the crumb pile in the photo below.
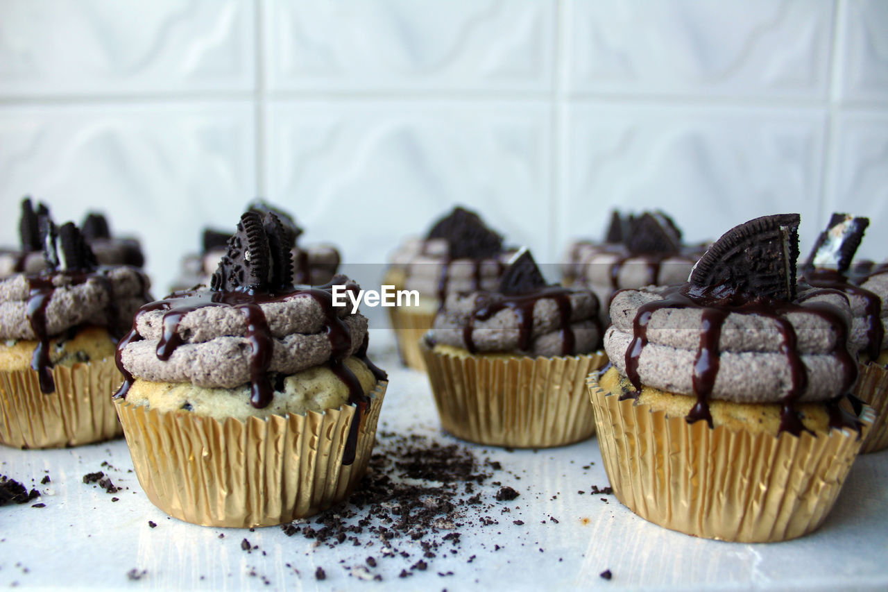
[[[274,337],[269,372],[292,374],[329,361],[332,354],[321,305],[307,294],[261,304]],[[335,308],[351,335],[350,354],[361,348],[367,318],[350,308]],[[143,313],[137,329],[144,340],[123,349],[121,360],[133,376],[159,382],[191,382],[199,387],[234,388],[250,381],[252,349],[241,310],[228,306],[197,308],[178,324],[182,344],[168,360],[157,357],[164,310]]]

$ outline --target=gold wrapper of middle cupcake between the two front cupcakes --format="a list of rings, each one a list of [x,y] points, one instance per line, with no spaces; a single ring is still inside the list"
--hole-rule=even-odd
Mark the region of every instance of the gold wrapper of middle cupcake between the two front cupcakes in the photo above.
[[[463,440],[511,448],[574,444],[595,434],[586,376],[603,353],[458,357],[422,343],[441,427]]]

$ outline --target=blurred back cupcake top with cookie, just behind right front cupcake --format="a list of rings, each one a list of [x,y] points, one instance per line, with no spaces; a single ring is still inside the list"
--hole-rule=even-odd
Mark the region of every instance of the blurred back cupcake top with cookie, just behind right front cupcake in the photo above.
[[[622,288],[686,281],[705,251],[705,244],[682,244],[681,230],[663,212],[621,216],[614,211],[604,243],[582,240],[568,247],[563,283],[589,286],[608,302]],[[607,309],[602,312],[607,316]]]

